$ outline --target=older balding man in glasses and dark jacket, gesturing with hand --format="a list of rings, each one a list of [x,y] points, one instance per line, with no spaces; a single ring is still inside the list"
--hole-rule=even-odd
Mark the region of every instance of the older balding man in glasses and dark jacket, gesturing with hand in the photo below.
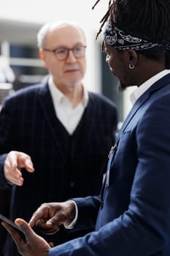
[[[0,114],[0,184],[12,187],[11,219],[27,221],[44,202],[99,193],[117,129],[115,104],[82,83],[87,45],[80,26],[45,24],[38,45],[49,80],[6,99]],[[88,231],[60,229],[45,238],[61,244]],[[10,237],[4,255],[18,255]]]

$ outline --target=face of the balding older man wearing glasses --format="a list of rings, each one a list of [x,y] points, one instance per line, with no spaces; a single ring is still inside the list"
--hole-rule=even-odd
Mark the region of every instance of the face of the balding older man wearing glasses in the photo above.
[[[61,26],[47,34],[45,48],[54,50],[61,48],[72,49],[75,46],[85,46],[85,36],[80,29],[74,26]],[[86,59],[85,55],[76,58],[72,50],[64,60],[58,60],[55,53],[43,51],[45,67],[53,75],[54,83],[59,86],[74,86],[81,83],[85,75]]]

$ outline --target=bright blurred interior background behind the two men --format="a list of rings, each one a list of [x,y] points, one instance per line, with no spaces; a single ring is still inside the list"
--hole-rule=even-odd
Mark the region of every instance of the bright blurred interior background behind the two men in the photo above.
[[[0,104],[9,93],[39,83],[47,75],[39,59],[36,34],[42,24],[54,20],[80,23],[88,40],[88,68],[84,79],[90,91],[104,94],[117,104],[120,124],[131,108],[131,89],[117,94],[117,78],[109,72],[101,53],[102,33],[96,40],[108,1],[101,0],[5,0],[0,8]],[[134,90],[134,88],[132,88]]]

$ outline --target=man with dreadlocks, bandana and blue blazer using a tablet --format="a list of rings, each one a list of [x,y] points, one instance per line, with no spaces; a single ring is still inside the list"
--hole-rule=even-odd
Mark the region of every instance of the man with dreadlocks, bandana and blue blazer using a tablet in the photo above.
[[[107,64],[120,89],[138,86],[133,108],[110,151],[100,196],[44,204],[29,225],[17,219],[25,240],[3,224],[21,255],[170,255],[170,1],[109,1],[102,22]],[[61,223],[96,230],[51,248],[31,229],[53,233]]]

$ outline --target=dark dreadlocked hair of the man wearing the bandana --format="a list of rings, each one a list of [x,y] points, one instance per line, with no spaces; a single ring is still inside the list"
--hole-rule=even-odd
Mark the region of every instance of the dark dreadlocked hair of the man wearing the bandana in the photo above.
[[[96,1],[93,9],[99,1]],[[96,39],[108,19],[111,20],[112,29],[117,26],[131,36],[170,45],[170,0],[109,0]],[[159,51],[143,50],[141,53],[152,59],[166,56],[166,68],[170,68],[169,50],[161,48]]]

